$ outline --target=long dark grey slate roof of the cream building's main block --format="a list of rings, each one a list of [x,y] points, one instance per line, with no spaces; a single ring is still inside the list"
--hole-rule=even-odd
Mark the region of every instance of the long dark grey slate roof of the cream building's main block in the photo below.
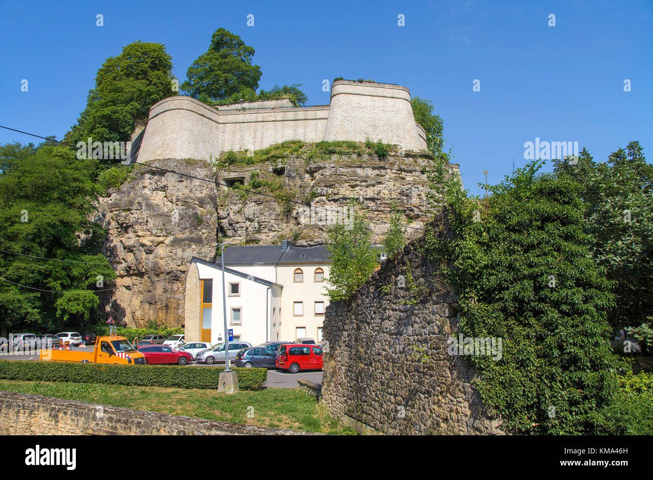
[[[272,265],[275,263],[325,263],[329,261],[327,248],[323,245],[316,247],[291,246],[287,251],[283,251],[281,245],[232,246],[225,249],[223,256],[225,266],[251,264]],[[220,259],[217,260],[217,263],[220,263]]]

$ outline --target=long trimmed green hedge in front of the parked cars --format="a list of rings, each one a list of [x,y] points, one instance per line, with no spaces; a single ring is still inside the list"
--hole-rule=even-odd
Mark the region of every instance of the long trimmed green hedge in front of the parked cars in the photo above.
[[[108,365],[77,362],[29,362],[0,360],[0,379],[23,381],[72,381],[134,387],[217,389],[219,367],[177,365]],[[260,390],[268,379],[266,368],[233,368],[242,390]]]

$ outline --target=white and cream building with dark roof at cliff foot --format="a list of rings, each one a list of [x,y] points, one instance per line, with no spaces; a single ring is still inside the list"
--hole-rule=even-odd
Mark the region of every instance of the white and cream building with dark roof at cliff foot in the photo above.
[[[322,340],[328,305],[325,247],[231,246],[225,249],[227,328],[234,341],[258,345]],[[224,340],[221,260],[193,257],[185,289],[186,342]]]

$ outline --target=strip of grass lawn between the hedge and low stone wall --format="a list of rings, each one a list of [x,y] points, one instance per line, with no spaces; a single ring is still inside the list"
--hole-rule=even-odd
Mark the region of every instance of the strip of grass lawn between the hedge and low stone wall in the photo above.
[[[100,383],[0,380],[0,390],[34,393],[93,404],[158,411],[277,428],[328,434],[354,434],[340,428],[313,396],[300,389],[263,389],[231,395],[214,390],[126,387]],[[248,411],[253,407],[253,418]]]

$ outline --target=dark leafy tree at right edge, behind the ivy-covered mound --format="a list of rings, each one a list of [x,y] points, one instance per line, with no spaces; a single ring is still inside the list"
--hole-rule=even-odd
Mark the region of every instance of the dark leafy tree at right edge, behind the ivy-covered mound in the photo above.
[[[653,165],[630,142],[605,163],[583,149],[577,159],[554,161],[554,171],[579,185],[590,252],[615,281],[611,325],[640,325],[653,315]]]

